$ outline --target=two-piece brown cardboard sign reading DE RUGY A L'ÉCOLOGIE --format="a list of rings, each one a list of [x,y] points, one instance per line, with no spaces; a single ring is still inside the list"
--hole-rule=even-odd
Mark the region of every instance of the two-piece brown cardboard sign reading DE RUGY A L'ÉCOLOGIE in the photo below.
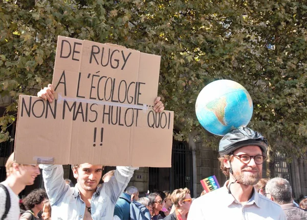
[[[59,36],[57,99],[19,96],[16,162],[170,167],[173,112],[152,109],[159,69],[160,56]]]

